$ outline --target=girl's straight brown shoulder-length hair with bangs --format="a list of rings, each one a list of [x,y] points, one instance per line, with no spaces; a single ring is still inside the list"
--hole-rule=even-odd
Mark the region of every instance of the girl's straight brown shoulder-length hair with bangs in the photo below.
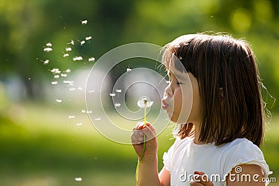
[[[257,63],[251,47],[232,36],[191,34],[164,47],[163,63],[173,56],[199,85],[202,123],[199,141],[216,145],[246,138],[259,146],[264,135],[264,107]],[[174,63],[177,70],[179,64]],[[223,88],[223,98],[220,96]],[[179,125],[176,136],[193,136],[193,123]]]

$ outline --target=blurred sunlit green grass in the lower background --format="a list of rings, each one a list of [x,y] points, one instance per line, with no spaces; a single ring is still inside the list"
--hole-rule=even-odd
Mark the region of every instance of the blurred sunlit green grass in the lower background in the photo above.
[[[0,118],[0,185],[135,185],[137,157],[133,147],[106,139],[86,116],[77,114],[76,120],[84,123],[77,126],[68,119],[69,113],[78,112],[75,109],[22,104],[10,107],[10,111],[10,116]],[[278,121],[274,116],[262,146],[271,176],[276,178]],[[173,143],[169,132],[167,129],[158,137],[159,169],[163,152]]]

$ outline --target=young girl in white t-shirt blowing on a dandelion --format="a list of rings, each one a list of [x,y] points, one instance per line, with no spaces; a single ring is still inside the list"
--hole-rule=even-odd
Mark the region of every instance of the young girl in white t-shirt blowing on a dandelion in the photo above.
[[[261,82],[249,45],[202,33],[176,38],[164,49],[170,81],[162,105],[178,125],[176,141],[158,174],[155,129],[150,123],[133,128],[139,159],[146,137],[137,184],[268,185],[271,172],[259,149],[264,134]]]

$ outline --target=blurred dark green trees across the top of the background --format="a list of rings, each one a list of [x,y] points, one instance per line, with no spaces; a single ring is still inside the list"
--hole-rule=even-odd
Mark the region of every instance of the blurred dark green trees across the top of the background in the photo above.
[[[1,79],[17,75],[29,98],[34,98],[47,70],[78,68],[63,58],[66,43],[93,36],[91,45],[75,45],[75,52],[96,59],[128,42],[157,45],[186,33],[220,31],[252,42],[259,70],[271,95],[279,95],[279,3],[253,1],[13,1],[0,2]],[[88,20],[82,25],[81,20]],[[43,46],[52,42],[53,51]],[[46,59],[49,65],[42,66]],[[30,78],[31,80],[30,81]],[[39,94],[40,95],[40,94]],[[268,101],[270,105],[273,100]],[[279,110],[278,103],[274,109]]]

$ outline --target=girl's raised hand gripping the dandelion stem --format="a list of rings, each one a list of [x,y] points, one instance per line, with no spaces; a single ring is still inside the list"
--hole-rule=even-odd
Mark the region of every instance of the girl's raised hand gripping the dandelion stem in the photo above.
[[[142,160],[155,160],[157,158],[157,139],[156,139],[156,130],[155,128],[148,122],[146,125],[140,122],[137,123],[136,127],[133,127],[133,133],[131,135],[131,140],[133,147],[135,149],[135,153],[140,158],[143,150],[143,142],[145,135],[145,150],[144,155],[142,156]]]

